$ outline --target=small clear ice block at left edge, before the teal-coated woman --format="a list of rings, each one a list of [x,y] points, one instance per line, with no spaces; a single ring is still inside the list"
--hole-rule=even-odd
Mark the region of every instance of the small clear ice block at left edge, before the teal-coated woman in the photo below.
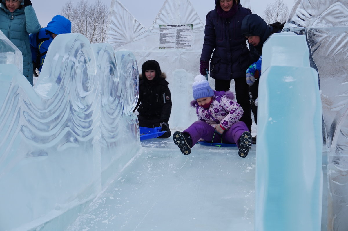
[[[23,74],[23,55],[7,37],[0,31],[0,63],[13,63]]]

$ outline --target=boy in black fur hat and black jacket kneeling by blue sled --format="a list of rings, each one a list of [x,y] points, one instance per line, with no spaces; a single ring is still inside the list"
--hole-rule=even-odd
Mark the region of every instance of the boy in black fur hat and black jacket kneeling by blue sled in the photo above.
[[[166,131],[157,138],[168,138],[172,135],[169,129],[169,117],[172,110],[171,92],[165,73],[156,60],[150,59],[141,67],[139,100],[133,112],[138,108],[140,127],[161,127]],[[139,105],[140,104],[140,105]]]

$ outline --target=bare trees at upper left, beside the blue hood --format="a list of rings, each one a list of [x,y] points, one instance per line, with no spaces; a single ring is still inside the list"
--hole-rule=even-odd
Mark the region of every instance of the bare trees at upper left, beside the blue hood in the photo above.
[[[71,32],[85,35],[90,43],[106,42],[109,11],[105,3],[97,0],[92,5],[80,0],[77,6],[69,1],[63,6],[61,15],[71,21]]]

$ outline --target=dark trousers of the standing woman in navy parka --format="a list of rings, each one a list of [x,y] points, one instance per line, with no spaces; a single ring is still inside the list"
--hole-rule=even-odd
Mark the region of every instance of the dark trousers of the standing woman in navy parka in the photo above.
[[[229,91],[231,80],[215,79],[215,91]],[[243,108],[243,116],[239,121],[243,121],[251,131],[251,125],[253,123],[251,119],[250,99],[249,99],[249,85],[246,83],[246,78],[241,77],[235,79],[236,100],[237,103]]]

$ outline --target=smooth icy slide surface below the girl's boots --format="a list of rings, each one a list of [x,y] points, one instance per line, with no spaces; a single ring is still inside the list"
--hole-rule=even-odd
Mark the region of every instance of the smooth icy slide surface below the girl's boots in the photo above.
[[[255,150],[197,144],[184,156],[172,137],[144,140],[66,231],[254,230]]]

